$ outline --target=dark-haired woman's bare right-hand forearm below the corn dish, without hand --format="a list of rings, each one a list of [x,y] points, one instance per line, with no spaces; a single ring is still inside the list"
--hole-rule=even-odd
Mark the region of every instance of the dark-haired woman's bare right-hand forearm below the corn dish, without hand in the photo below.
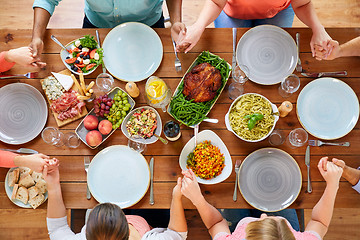
[[[172,199],[170,206],[169,229],[176,232],[187,232],[185,212],[181,198]]]

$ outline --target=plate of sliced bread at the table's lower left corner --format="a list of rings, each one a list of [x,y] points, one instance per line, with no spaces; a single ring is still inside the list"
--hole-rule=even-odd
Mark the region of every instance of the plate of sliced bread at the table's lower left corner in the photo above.
[[[9,199],[19,207],[35,209],[47,199],[47,184],[42,174],[27,167],[8,171],[5,190]]]

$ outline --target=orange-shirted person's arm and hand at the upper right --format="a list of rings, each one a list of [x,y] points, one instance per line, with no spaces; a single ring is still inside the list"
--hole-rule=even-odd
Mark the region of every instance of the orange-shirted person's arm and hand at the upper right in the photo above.
[[[291,5],[300,21],[311,28],[313,32],[310,41],[312,56],[315,57],[316,45],[320,46],[326,52],[329,52],[330,46],[328,46],[328,43],[331,40],[331,37],[320,23],[311,0],[292,0]]]

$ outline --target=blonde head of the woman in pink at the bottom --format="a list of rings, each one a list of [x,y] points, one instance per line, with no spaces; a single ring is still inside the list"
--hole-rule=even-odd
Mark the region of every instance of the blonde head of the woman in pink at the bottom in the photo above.
[[[259,221],[247,225],[246,240],[295,240],[286,220],[261,214]]]

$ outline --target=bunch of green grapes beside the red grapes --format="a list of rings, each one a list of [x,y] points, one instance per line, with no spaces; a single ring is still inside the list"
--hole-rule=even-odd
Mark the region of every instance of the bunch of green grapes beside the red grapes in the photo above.
[[[112,123],[113,129],[119,128],[126,114],[130,111],[131,105],[128,102],[127,94],[119,90],[114,96],[114,104],[107,114],[107,119]]]

